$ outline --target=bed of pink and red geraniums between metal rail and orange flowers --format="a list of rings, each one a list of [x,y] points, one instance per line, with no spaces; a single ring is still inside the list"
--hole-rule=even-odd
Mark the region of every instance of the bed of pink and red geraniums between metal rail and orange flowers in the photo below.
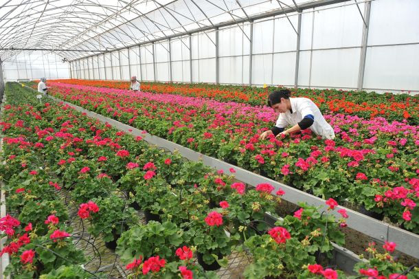
[[[53,84],[58,98],[296,188],[384,213],[418,232],[418,126],[326,115],[337,134],[307,131],[258,139],[276,115],[266,107],[201,98]]]

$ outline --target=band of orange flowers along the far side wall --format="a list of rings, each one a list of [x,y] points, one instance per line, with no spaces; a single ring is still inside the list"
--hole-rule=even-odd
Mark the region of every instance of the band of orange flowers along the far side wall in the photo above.
[[[129,82],[109,80],[55,80],[72,85],[129,89]],[[52,80],[54,82],[54,80]],[[222,102],[243,102],[251,105],[266,105],[268,92],[275,87],[258,88],[234,85],[183,84],[141,82],[141,91],[212,98]],[[419,96],[404,94],[378,94],[365,91],[342,91],[336,89],[291,89],[294,97],[310,98],[325,113],[343,113],[362,118],[384,117],[387,120],[419,124]]]

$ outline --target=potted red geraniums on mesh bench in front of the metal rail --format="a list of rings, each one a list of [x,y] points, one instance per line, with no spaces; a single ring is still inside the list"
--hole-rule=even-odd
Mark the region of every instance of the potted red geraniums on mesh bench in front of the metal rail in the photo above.
[[[117,253],[132,276],[213,278],[214,273],[192,263],[194,252],[202,255],[204,265],[214,260],[223,265],[231,249],[246,249],[253,255],[246,278],[345,278],[317,265],[313,254],[329,253],[330,241],[343,243],[339,225],[344,226],[346,212],[339,212],[342,219],[336,222],[328,212],[319,214],[302,204],[294,216],[269,229],[260,221],[278,202],[269,184],[246,188],[231,175],[183,162],[179,154],[150,148],[141,138],[93,122],[68,106],[38,104],[18,85],[7,90],[2,178],[8,183],[8,212],[19,213],[19,218],[1,219],[0,230],[9,236],[3,253],[11,254],[8,272],[16,278],[41,273],[43,278],[90,276],[78,266],[84,260],[71,242],[71,227],[65,225],[69,206],[63,202],[64,192],[93,235],[112,241],[126,230],[117,241]],[[134,202],[158,214],[161,222],[140,225],[126,206]],[[337,202],[329,199],[326,204],[334,210]],[[268,234],[256,233],[264,230]],[[407,269],[389,254],[394,247],[385,244],[387,252],[377,254],[375,268],[363,263],[356,270],[407,278],[401,275]],[[416,275],[414,270],[408,276]]]

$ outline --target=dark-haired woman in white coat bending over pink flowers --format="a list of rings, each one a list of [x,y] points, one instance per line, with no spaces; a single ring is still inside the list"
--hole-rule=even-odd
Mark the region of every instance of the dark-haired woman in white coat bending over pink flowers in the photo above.
[[[335,131],[326,122],[317,105],[308,98],[290,98],[291,91],[282,89],[269,94],[268,106],[275,112],[280,113],[275,126],[271,130],[264,131],[261,139],[266,139],[273,134],[275,137],[288,135],[300,130],[310,129],[316,135],[324,139],[335,138]],[[290,126],[290,129],[285,129]]]

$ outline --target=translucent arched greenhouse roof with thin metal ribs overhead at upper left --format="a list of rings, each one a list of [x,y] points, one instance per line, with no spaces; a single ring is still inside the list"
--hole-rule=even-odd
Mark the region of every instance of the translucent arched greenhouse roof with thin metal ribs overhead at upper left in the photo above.
[[[56,49],[73,60],[313,1],[0,0],[0,59]]]

